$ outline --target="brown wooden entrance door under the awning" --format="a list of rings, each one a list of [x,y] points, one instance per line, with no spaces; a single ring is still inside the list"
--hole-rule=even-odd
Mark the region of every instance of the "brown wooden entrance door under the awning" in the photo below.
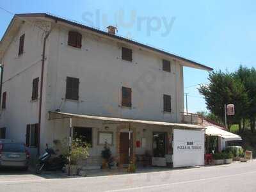
[[[129,164],[129,132],[120,132],[119,152],[120,152],[120,164]],[[132,154],[132,135],[131,135],[131,154]]]

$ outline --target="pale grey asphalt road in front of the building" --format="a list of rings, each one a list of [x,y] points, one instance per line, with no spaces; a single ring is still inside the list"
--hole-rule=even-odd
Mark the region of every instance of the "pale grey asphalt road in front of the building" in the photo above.
[[[164,172],[44,179],[0,174],[0,191],[256,191],[256,161]]]

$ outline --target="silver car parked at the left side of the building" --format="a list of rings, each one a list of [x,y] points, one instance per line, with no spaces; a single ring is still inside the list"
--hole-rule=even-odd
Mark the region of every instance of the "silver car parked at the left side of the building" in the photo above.
[[[24,143],[0,143],[0,167],[28,170],[29,152]]]

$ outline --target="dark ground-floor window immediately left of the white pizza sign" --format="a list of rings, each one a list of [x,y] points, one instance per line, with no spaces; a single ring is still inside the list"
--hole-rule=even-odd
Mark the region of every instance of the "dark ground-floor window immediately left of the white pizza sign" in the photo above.
[[[153,156],[165,157],[167,154],[166,132],[153,132]]]

